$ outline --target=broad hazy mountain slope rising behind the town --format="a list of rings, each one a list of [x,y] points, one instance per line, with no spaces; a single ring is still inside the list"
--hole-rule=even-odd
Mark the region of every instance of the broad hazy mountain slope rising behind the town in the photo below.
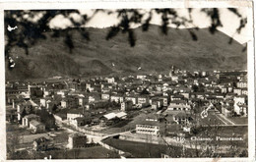
[[[70,53],[64,37],[40,39],[29,49],[15,47],[10,55],[16,66],[6,70],[7,80],[49,78],[53,76],[89,77],[136,73],[167,72],[174,65],[183,70],[244,70],[247,53],[235,40],[221,31],[211,34],[208,28],[193,29],[198,40],[187,29],[168,28],[164,35],[158,26],[148,31],[134,28],[136,45],[131,47],[127,33],[118,33],[110,40],[109,28],[88,28],[91,40],[83,37],[80,28],[72,28],[74,49]],[[64,32],[64,31],[62,31]],[[7,65],[6,65],[7,67]],[[138,68],[141,70],[138,71]]]

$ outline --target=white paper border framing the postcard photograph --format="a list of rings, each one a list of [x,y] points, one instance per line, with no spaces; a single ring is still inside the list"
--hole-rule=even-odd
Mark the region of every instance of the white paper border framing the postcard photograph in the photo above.
[[[247,65],[248,65],[248,158],[186,158],[189,161],[254,161],[255,159],[255,57],[254,57],[254,45],[253,39],[253,3],[251,1],[194,1],[194,0],[142,0],[142,1],[127,1],[127,0],[96,0],[96,1],[0,1],[0,42],[4,42],[4,10],[30,10],[30,9],[113,9],[113,8],[227,8],[227,7],[247,7],[248,8],[248,24],[251,27],[248,29],[249,35],[251,34],[250,41],[248,42],[247,50]],[[255,17],[254,17],[255,18]],[[255,34],[255,33],[254,33]],[[2,77],[0,78],[0,160],[6,158],[6,135],[5,135],[5,66],[4,66],[4,43],[1,43],[0,50],[2,54],[0,56],[0,72]],[[104,161],[116,161],[117,159],[105,159]],[[125,161],[156,161],[157,159],[126,159]],[[158,159],[158,161],[184,161],[185,159]],[[13,160],[10,160],[13,161]],[[22,160],[15,160],[22,161]],[[41,160],[36,160],[41,161]],[[44,161],[44,160],[43,160]],[[55,160],[53,160],[55,161]],[[57,161],[57,160],[56,160]],[[62,160],[61,160],[62,161]],[[66,160],[65,160],[66,161]],[[68,160],[68,161],[85,161],[85,160]],[[87,159],[86,161],[102,161],[102,159]],[[118,159],[118,161],[122,161]]]

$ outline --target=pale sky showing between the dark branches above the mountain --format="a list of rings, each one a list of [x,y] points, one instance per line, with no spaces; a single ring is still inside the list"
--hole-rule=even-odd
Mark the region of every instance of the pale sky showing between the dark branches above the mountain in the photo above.
[[[209,27],[210,26],[210,23],[211,23],[210,18],[207,17],[206,14],[201,12],[200,10],[201,9],[193,10],[192,12],[193,25],[191,24],[186,27]],[[187,9],[176,9],[176,11],[179,16],[189,19]],[[250,37],[250,35],[248,35],[248,32],[247,32],[247,27],[244,27],[241,30],[240,34],[236,32],[236,28],[239,27],[238,17],[224,8],[220,9],[219,11],[221,15],[221,21],[224,27],[219,27],[218,29],[223,31],[225,34],[233,37],[235,40],[237,40],[240,43],[247,42]],[[246,12],[247,12],[246,8],[239,8],[238,11],[243,18],[246,17]],[[87,14],[89,17],[92,16],[93,14],[92,10],[80,10],[80,12],[81,14]],[[73,14],[71,17],[73,17],[77,21],[80,20],[79,15]],[[99,12],[94,16],[94,18],[90,22],[87,23],[86,27],[111,27],[113,25],[116,25],[118,21],[119,20],[116,18],[115,14],[107,15],[105,13]],[[161,24],[160,15],[154,14],[151,24],[160,25]],[[71,22],[69,21],[69,19],[66,19],[63,16],[57,16],[50,22],[49,26],[57,27],[57,28],[65,28],[65,27],[70,27]],[[134,27],[138,27],[138,26],[134,26]],[[169,27],[174,27],[174,26],[170,24]]]

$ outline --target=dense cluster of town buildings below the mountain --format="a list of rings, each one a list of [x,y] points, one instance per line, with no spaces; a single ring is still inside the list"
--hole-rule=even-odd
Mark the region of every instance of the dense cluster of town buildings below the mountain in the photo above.
[[[150,107],[156,113],[138,123],[136,133],[160,135],[174,125],[186,129],[193,122],[195,105],[213,103],[226,117],[246,117],[247,92],[245,71],[191,73],[174,67],[165,75],[7,81],[6,103],[12,107],[7,120],[41,133],[55,122],[75,128],[107,127]],[[37,111],[54,120],[41,119]]]

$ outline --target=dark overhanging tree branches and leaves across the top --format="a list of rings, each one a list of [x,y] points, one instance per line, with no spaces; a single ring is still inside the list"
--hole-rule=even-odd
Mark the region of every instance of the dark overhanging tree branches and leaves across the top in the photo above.
[[[147,31],[152,23],[153,15],[157,14],[161,18],[160,29],[163,34],[167,34],[168,25],[174,25],[175,27],[193,25],[193,20],[191,14],[193,13],[192,8],[187,9],[189,13],[189,19],[180,16],[175,9],[118,9],[118,10],[92,10],[92,16],[87,14],[80,13],[79,10],[30,10],[30,11],[21,11],[21,10],[9,10],[5,11],[4,21],[5,21],[5,58],[9,64],[9,70],[15,65],[14,60],[10,57],[10,50],[14,46],[24,48],[26,54],[29,54],[29,48],[38,42],[40,39],[46,39],[45,31],[52,30],[53,37],[64,37],[64,43],[69,48],[70,53],[74,49],[74,40],[72,33],[68,28],[64,33],[60,32],[59,29],[52,29],[49,27],[49,22],[57,16],[63,16],[71,22],[71,27],[81,27],[79,30],[80,33],[90,41],[90,33],[85,26],[90,20],[94,19],[95,15],[99,12],[112,15],[117,17],[119,23],[111,27],[106,33],[105,39],[111,39],[117,33],[121,32],[127,36],[129,44],[131,47],[136,45],[136,35],[132,29],[133,26],[141,26],[143,31]],[[233,13],[239,19],[239,27],[237,27],[237,32],[239,33],[243,27],[247,24],[247,18],[243,18],[241,14],[235,8],[227,8],[229,12]],[[218,27],[223,27],[222,21],[220,19],[220,11],[217,8],[208,8],[201,9],[201,12],[205,14],[211,20],[211,26],[209,31],[215,33]],[[80,16],[80,20],[75,20],[72,15]],[[35,21],[34,21],[35,20]],[[12,27],[18,27],[9,31]],[[198,27],[195,27],[198,29]],[[198,37],[196,33],[187,28],[187,31],[191,35],[193,40],[197,40]],[[229,43],[232,42],[230,38]],[[246,50],[246,47],[244,48]]]

